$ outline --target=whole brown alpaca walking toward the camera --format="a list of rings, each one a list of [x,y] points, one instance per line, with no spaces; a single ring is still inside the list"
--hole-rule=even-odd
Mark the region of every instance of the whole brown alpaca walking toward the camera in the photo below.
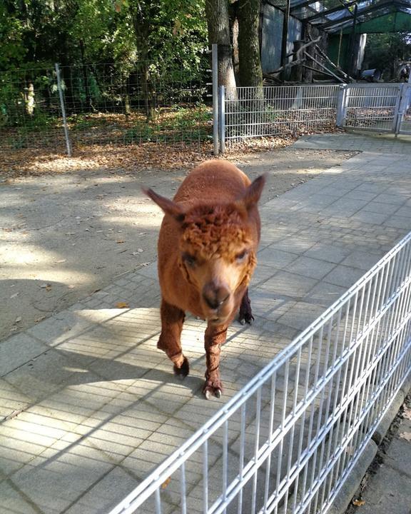
[[[260,216],[257,202],[265,182],[253,183],[233,164],[206,161],[191,171],[173,201],[151,189],[144,192],[166,213],[158,238],[161,335],[158,348],[173,361],[174,373],[187,376],[181,350],[185,312],[207,321],[207,371],[203,393],[220,398],[220,346],[240,311],[251,323],[248,283],[253,274]]]

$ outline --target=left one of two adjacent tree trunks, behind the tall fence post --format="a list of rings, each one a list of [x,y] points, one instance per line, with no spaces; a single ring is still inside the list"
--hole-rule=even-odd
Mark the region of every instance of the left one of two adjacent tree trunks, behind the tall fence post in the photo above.
[[[205,0],[208,42],[218,44],[218,85],[228,88],[226,97],[235,99],[235,76],[230,44],[227,0]]]

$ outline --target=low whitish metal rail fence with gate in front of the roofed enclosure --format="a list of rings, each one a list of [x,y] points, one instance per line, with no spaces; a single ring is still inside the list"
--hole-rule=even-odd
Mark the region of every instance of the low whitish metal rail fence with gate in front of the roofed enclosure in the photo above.
[[[246,138],[350,129],[411,133],[411,84],[220,87],[220,151]]]

